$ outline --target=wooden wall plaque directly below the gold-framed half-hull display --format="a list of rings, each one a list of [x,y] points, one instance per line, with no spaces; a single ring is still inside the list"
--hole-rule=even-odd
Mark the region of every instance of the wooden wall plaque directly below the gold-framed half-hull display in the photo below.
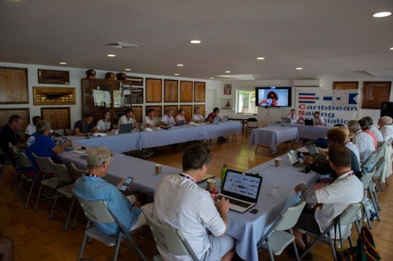
[[[71,129],[70,107],[41,108],[41,117],[51,124],[53,130]]]

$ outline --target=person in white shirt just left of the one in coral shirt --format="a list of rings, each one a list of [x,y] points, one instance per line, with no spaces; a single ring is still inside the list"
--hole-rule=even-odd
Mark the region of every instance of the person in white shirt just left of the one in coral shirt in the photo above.
[[[354,134],[352,142],[356,145],[356,147],[358,147],[360,162],[363,164],[366,159],[375,151],[374,140],[372,139],[371,135],[362,131],[358,121],[349,121],[348,130]]]

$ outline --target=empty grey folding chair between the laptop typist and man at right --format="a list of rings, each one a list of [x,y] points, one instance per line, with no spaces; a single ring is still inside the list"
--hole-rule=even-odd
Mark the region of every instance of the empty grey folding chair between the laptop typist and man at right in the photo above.
[[[258,249],[267,250],[271,261],[274,261],[273,254],[281,255],[285,247],[291,242],[295,250],[296,260],[300,260],[292,228],[296,225],[304,206],[306,206],[306,201],[302,200],[296,206],[285,209],[274,225],[259,240]],[[290,234],[285,230],[289,230]]]

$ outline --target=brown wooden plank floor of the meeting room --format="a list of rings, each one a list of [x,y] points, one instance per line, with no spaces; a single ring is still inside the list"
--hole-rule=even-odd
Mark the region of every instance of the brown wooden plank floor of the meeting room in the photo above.
[[[267,148],[259,148],[255,154],[255,147],[249,150],[248,142],[249,138],[241,134],[236,135],[236,140],[233,136],[229,137],[227,142],[213,140],[208,145],[213,153],[208,173],[218,177],[223,164],[226,164],[230,169],[244,171],[273,158]],[[184,146],[181,147],[182,150],[184,148]],[[284,154],[288,149],[290,149],[289,143],[281,144],[278,148],[278,155]],[[155,153],[148,160],[181,168],[182,150],[173,151],[167,148],[162,152]],[[15,202],[15,191],[10,191],[13,180],[9,174],[11,170],[11,167],[7,168],[0,182],[0,229],[3,235],[14,240],[15,260],[76,260],[86,226],[85,220],[79,219],[76,229],[68,229],[67,232],[62,232],[65,216],[61,211],[56,210],[54,219],[49,221],[50,205],[47,202],[40,201],[39,209],[37,211],[32,210],[36,191],[33,192],[29,208],[24,210],[26,195],[21,193],[19,201]],[[371,230],[382,260],[393,260],[393,194],[391,194],[393,192],[393,179],[390,178],[388,181],[392,185],[378,194],[382,208],[380,212],[382,221],[373,221],[373,229]],[[67,208],[68,204],[67,200],[62,201],[64,208]],[[356,242],[355,235],[357,234],[354,232],[353,235],[354,242]],[[152,260],[156,251],[153,238],[149,236],[140,240],[137,235],[134,235],[133,238],[147,259]],[[347,247],[348,243],[345,246]],[[93,258],[97,261],[112,260],[113,251],[114,248],[106,247],[93,240],[91,244],[86,244],[84,258]],[[312,252],[314,260],[332,260],[328,245],[320,243]],[[266,252],[260,252],[259,259],[269,260]],[[134,252],[123,248],[118,260],[141,259]],[[276,260],[292,259],[284,251],[281,256],[276,257]]]

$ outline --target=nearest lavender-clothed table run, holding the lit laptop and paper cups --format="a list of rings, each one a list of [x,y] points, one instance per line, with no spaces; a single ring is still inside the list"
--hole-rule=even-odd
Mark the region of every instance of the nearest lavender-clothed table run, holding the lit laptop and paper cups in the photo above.
[[[118,153],[114,153],[113,156],[113,161],[104,179],[112,184],[117,184],[122,178],[133,177],[132,189],[145,193],[148,202],[153,200],[154,191],[164,176],[181,171],[178,168],[163,165],[163,173],[157,176],[155,175],[154,165],[156,163],[154,162]],[[66,165],[74,162],[77,167],[86,169],[85,160],[75,153],[64,152],[57,157]],[[274,159],[272,159],[245,171],[246,173],[258,173],[263,178],[258,203],[254,207],[260,212],[257,214],[238,213],[232,210],[228,212],[226,233],[236,239],[236,252],[244,260],[258,260],[257,243],[259,239],[270,229],[284,209],[299,202],[300,198],[293,190],[295,185],[305,183],[310,187],[317,180],[316,173],[302,173],[291,166],[286,155],[281,158],[281,168],[276,168]],[[279,198],[271,196],[272,186],[275,184],[281,186]],[[200,186],[204,187],[205,183]],[[219,183],[216,186],[219,186]]]

